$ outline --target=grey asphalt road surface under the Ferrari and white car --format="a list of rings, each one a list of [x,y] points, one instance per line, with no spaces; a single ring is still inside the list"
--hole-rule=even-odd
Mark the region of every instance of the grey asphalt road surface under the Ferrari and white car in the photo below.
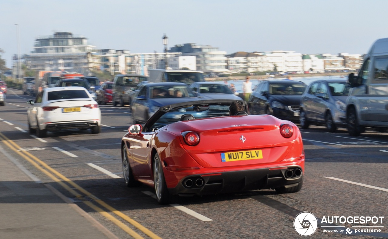
[[[327,133],[322,126],[310,126],[301,130],[306,165],[300,192],[257,190],[180,198],[177,205],[161,206],[152,188],[124,185],[120,140],[132,124],[128,107],[100,106],[100,134],[49,132],[39,139],[28,133],[30,99],[9,88],[6,106],[0,107],[0,136],[12,141],[14,149],[2,147],[36,180],[53,186],[120,239],[303,238],[293,226],[303,211],[313,213],[319,223],[310,238],[388,238],[387,133],[366,131],[350,137],[346,129]],[[368,224],[349,219],[321,223],[332,217],[384,218]],[[355,231],[361,229],[380,232]]]

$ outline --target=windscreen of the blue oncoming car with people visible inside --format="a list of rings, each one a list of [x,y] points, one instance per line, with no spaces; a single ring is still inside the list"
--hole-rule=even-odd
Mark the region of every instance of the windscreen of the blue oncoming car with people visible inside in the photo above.
[[[195,97],[187,86],[153,86],[150,87],[150,98]]]

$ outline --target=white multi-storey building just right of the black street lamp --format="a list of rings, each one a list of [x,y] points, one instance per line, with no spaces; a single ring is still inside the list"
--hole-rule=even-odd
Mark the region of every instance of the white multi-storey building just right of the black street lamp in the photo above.
[[[201,70],[207,74],[229,72],[227,69],[226,52],[220,51],[217,47],[185,43],[184,45],[171,47],[169,52],[182,52],[182,56],[196,57],[197,70]]]

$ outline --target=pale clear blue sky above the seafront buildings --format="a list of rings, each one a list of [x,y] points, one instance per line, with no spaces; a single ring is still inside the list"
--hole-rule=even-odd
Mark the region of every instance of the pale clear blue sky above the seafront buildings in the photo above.
[[[163,52],[166,34],[168,48],[195,43],[227,54],[364,54],[388,37],[385,9],[387,0],[0,0],[0,48],[7,67],[18,38],[23,55],[57,31],[130,53]]]

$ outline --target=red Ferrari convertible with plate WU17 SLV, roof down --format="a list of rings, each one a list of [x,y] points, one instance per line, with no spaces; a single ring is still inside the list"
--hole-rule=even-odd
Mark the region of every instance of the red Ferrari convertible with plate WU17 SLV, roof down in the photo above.
[[[126,186],[154,187],[160,204],[177,195],[298,192],[305,165],[298,127],[272,115],[229,115],[232,101],[166,105],[144,126],[130,126],[121,141]]]

